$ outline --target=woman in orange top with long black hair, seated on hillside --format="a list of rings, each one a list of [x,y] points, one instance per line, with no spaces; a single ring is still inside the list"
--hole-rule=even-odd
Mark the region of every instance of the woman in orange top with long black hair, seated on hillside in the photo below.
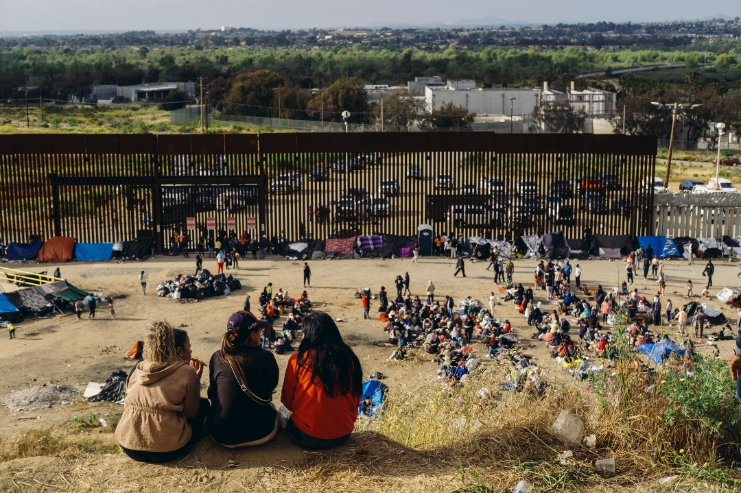
[[[307,315],[304,338],[285,370],[281,401],[293,412],[286,431],[305,449],[345,443],[355,429],[362,394],[360,360],[324,312]]]

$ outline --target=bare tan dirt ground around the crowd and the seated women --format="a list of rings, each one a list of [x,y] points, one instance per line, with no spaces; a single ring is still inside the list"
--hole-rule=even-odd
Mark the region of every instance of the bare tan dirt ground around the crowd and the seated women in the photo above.
[[[576,264],[572,261],[572,264]],[[591,287],[617,286],[625,278],[624,261],[579,261],[583,269],[582,283]],[[711,295],[723,286],[737,286],[737,273],[740,272],[736,262],[717,261],[715,286]],[[433,363],[405,366],[389,364],[388,356],[392,348],[382,346],[385,333],[382,323],[377,320],[362,320],[362,308],[354,297],[356,288],[369,286],[378,292],[384,285],[393,292],[393,279],[396,275],[409,272],[411,290],[420,298],[425,297],[425,286],[431,280],[436,286],[436,298],[444,300],[445,295],[453,295],[459,300],[473,296],[488,305],[488,296],[494,290],[497,295],[499,286],[493,282],[493,272],[485,270],[485,262],[467,263],[467,278],[453,277],[454,261],[445,258],[421,258],[419,264],[410,259],[403,260],[334,260],[310,261],[313,272],[312,286],[308,289],[309,297],[316,303],[316,309],[324,310],[333,318],[342,318],[338,322],[345,340],[353,346],[360,358],[364,375],[381,371],[387,375],[385,383],[393,387],[402,380],[406,384],[424,386],[434,380],[436,366]],[[515,262],[514,280],[528,286],[532,283],[532,272],[536,261],[519,260]],[[33,264],[3,264],[5,267],[16,266],[27,271],[50,272],[55,265],[36,266]],[[667,261],[665,273],[668,281],[666,294],[679,306],[686,300],[685,284],[688,278],[695,283],[695,292],[700,293],[705,278],[701,272],[704,263],[696,262],[688,266],[687,261]],[[107,263],[70,263],[61,264],[62,277],[96,295],[108,295],[116,298],[116,319],[110,318],[107,306],[99,309],[96,320],[88,320],[87,312],[81,321],[74,314],[52,316],[45,319],[27,319],[16,325],[16,340],[0,339],[0,397],[13,390],[29,386],[47,384],[64,384],[76,386],[82,392],[89,381],[103,382],[116,369],[128,371],[133,363],[123,359],[132,344],[141,338],[146,323],[166,319],[175,326],[183,324],[187,329],[193,345],[193,355],[208,360],[218,349],[219,341],[225,330],[229,315],[242,308],[245,295],[252,296],[253,308],[257,304],[259,292],[268,282],[273,283],[274,290],[287,289],[290,295],[300,295],[302,291],[302,262],[287,261],[282,258],[269,258],[265,261],[242,261],[241,269],[227,271],[242,281],[243,289],[232,295],[211,298],[197,303],[180,303],[170,298],[156,296],[156,286],[160,281],[173,278],[175,275],[193,272],[195,260],[182,257],[162,257],[144,262],[127,262],[125,264]],[[216,270],[213,259],[205,259],[205,267]],[[144,269],[149,274],[150,283],[147,295],[142,295],[138,275]],[[644,281],[642,271],[637,275],[635,286],[642,295],[651,298],[657,291],[657,282]],[[632,287],[632,286],[631,286]],[[5,292],[13,286],[2,285]],[[545,300],[545,292],[536,292],[536,301]],[[732,326],[737,321],[737,312],[728,306],[721,306],[717,298],[708,298],[711,306],[722,308],[730,319]],[[372,302],[371,311],[376,313],[378,301]],[[528,354],[536,358],[537,363],[551,375],[564,375],[542,343],[532,344],[530,335],[533,330],[525,324],[522,315],[516,312],[511,302],[497,306],[495,315],[509,319],[514,332]],[[276,322],[276,324],[282,321]],[[662,328],[674,334],[674,329]],[[714,330],[714,329],[711,329]],[[7,336],[4,336],[7,337]],[[734,341],[720,343],[721,357],[730,358]],[[484,349],[477,352],[483,357]],[[702,348],[702,352],[711,349]],[[289,355],[276,355],[281,369]],[[207,371],[202,378],[202,395],[206,395]],[[122,406],[113,403],[75,403],[71,406],[56,406],[52,409],[41,409],[28,414],[10,412],[0,408],[0,436],[8,437],[16,432],[29,428],[47,428],[61,423],[69,423],[73,417],[96,414],[105,417],[113,412],[120,412]],[[27,419],[39,416],[38,419]],[[110,434],[109,434],[110,435]],[[110,437],[109,437],[110,439]],[[260,471],[266,467],[287,461],[301,462],[305,457],[293,447],[284,435],[265,446],[247,451],[227,450],[216,446],[208,439],[202,441],[200,448],[182,463],[167,466],[147,466],[134,463],[121,454],[99,454],[89,457],[80,463],[65,463],[59,457],[36,457],[24,460],[10,460],[0,464],[0,490],[2,491],[130,491],[124,486],[115,487],[113,483],[134,484],[157,477],[161,468],[179,467],[187,469],[182,485],[170,485],[169,491],[188,489],[187,485],[208,483],[218,486],[210,491],[243,491],[242,488],[254,483]],[[241,463],[239,471],[227,469],[227,460]],[[225,474],[225,472],[230,474]],[[118,478],[118,479],[116,479]],[[125,481],[124,481],[125,479]],[[36,482],[34,482],[36,481]],[[213,483],[209,483],[213,481]],[[41,488],[40,484],[47,486]],[[24,485],[29,486],[24,486]],[[236,486],[239,485],[239,486]],[[178,488],[176,488],[178,486]],[[132,490],[133,491],[133,490]],[[142,491],[142,490],[136,490]],[[146,491],[161,491],[147,489]],[[162,489],[162,491],[168,491]],[[194,491],[194,490],[190,490]],[[206,490],[204,490],[206,491]]]

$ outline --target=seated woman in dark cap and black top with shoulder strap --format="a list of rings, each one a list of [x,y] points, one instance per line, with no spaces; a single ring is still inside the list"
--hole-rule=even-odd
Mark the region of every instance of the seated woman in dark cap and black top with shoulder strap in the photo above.
[[[211,409],[205,429],[220,445],[260,445],[278,432],[272,402],[278,386],[278,363],[262,349],[262,326],[250,312],[236,312],[227,321],[222,346],[211,356],[208,398]]]

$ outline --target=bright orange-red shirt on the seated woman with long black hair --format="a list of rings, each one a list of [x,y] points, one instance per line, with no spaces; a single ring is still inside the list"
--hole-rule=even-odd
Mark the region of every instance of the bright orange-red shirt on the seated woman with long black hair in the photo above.
[[[299,353],[288,359],[283,379],[281,402],[293,412],[290,419],[296,428],[315,438],[332,439],[349,435],[355,429],[360,389],[356,395],[343,394],[330,398],[319,378],[311,382],[307,363],[299,369]]]

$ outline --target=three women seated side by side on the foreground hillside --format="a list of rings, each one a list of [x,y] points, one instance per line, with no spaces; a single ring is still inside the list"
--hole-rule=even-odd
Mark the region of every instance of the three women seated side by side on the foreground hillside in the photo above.
[[[273,403],[279,368],[262,347],[264,324],[251,312],[230,316],[220,348],[208,365],[192,357],[187,332],[166,322],[150,324],[144,359],[127,378],[116,438],[134,460],[163,463],[187,455],[205,434],[219,445],[255,446],[276,436]],[[280,400],[292,412],[290,440],[326,449],[348,440],[362,394],[362,368],[330,315],[303,320],[304,337],[291,355]],[[200,380],[209,369],[208,399]]]

